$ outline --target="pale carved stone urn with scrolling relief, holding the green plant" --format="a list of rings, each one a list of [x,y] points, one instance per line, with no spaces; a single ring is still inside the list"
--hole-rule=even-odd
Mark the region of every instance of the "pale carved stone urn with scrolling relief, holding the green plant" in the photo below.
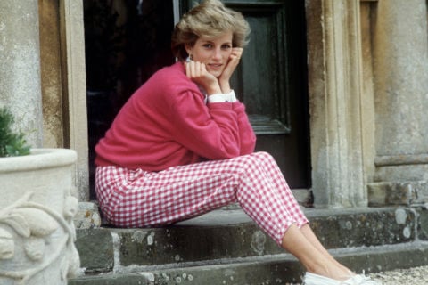
[[[0,159],[0,284],[61,285],[78,273],[75,151]]]

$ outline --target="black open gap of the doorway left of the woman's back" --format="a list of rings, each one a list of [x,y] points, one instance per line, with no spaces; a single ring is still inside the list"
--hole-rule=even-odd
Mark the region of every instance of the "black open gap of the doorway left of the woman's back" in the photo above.
[[[95,144],[121,106],[152,74],[175,59],[172,1],[85,0],[86,88],[91,199]]]

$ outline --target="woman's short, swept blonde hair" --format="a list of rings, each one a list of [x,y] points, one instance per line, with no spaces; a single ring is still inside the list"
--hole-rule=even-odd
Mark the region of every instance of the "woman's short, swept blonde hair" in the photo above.
[[[177,23],[171,39],[172,53],[178,60],[185,61],[185,45],[193,46],[199,37],[217,37],[227,31],[233,34],[234,47],[248,44],[250,25],[243,14],[226,8],[219,0],[204,0]]]

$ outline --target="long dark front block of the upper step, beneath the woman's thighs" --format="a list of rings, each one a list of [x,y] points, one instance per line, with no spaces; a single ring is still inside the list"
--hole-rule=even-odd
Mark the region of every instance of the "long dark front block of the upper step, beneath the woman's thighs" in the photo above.
[[[256,224],[112,229],[120,265],[159,265],[283,253]]]

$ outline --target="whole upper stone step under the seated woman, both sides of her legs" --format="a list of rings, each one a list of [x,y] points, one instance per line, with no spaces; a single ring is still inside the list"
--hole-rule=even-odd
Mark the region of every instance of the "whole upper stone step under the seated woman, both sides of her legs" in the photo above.
[[[305,212],[326,248],[428,240],[424,208],[307,208]],[[241,209],[220,209],[164,228],[77,232],[76,246],[86,274],[284,254]]]

